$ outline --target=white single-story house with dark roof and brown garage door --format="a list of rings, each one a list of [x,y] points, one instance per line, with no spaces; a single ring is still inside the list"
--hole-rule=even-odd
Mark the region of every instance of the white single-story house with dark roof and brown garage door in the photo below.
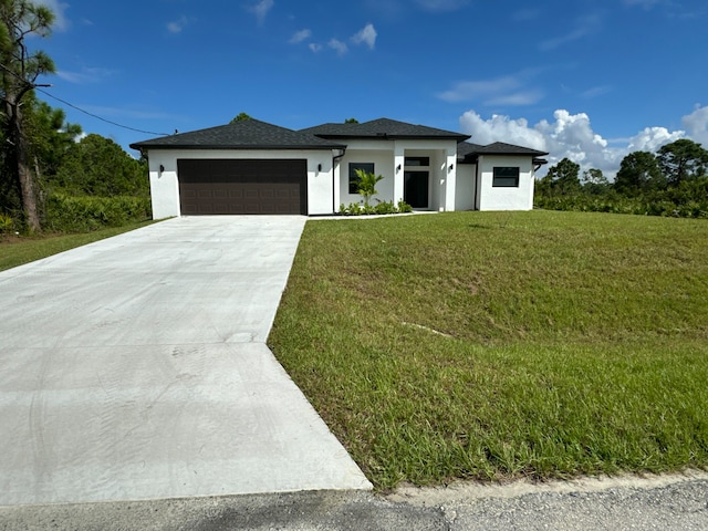
[[[374,200],[416,210],[530,210],[546,153],[381,118],[292,131],[258,119],[132,144],[149,162],[153,216],[331,215],[360,202],[355,169],[382,175]]]

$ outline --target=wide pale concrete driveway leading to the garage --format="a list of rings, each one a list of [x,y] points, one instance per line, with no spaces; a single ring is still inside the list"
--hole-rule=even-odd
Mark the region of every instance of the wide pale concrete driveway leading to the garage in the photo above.
[[[167,220],[0,273],[0,504],[367,489],[264,344],[303,217]]]

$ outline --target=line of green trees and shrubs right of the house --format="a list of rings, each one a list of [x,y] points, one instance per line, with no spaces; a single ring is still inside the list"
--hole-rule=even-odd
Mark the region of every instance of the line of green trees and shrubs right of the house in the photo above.
[[[534,206],[648,216],[708,218],[708,150],[689,139],[624,157],[614,183],[600,169],[580,176],[564,158],[537,181]]]

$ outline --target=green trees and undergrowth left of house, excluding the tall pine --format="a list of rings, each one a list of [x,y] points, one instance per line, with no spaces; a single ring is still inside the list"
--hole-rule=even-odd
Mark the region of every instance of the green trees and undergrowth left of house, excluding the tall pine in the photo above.
[[[150,217],[146,160],[101,135],[83,135],[60,108],[23,101],[28,159],[43,230],[75,232]],[[24,231],[12,145],[0,129],[0,232]]]

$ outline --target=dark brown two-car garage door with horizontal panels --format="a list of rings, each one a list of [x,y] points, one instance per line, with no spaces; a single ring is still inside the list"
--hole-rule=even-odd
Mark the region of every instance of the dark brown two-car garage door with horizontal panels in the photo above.
[[[179,159],[177,173],[186,216],[308,214],[304,159]]]

